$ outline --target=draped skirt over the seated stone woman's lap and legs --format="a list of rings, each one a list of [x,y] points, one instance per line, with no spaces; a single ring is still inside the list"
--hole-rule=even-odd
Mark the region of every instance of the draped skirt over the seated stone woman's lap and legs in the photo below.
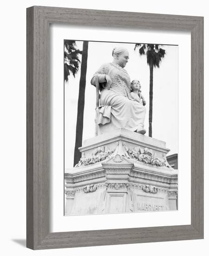
[[[146,108],[137,101],[131,101],[123,94],[103,89],[97,108],[98,135],[117,128],[131,131],[144,128]]]

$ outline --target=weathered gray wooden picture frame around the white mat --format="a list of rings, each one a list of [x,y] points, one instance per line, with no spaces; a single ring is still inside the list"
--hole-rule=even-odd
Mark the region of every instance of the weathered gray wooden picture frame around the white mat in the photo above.
[[[191,225],[49,232],[50,23],[191,32]],[[58,7],[27,8],[26,246],[52,249],[202,238],[203,17]]]

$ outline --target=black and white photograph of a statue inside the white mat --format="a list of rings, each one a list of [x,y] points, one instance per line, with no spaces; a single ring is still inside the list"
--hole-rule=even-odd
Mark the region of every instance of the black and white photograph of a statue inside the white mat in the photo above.
[[[64,40],[65,216],[178,210],[178,45]]]

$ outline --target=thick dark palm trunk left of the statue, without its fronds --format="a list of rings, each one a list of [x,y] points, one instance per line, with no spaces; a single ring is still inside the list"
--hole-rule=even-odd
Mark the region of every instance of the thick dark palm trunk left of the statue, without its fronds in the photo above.
[[[87,57],[88,57],[88,41],[83,42],[79,94],[78,94],[78,113],[76,123],[76,141],[74,150],[74,166],[79,162],[81,153],[78,150],[82,146],[83,139],[83,123],[84,123],[84,104],[85,104],[85,83],[86,83],[86,70],[87,70]]]

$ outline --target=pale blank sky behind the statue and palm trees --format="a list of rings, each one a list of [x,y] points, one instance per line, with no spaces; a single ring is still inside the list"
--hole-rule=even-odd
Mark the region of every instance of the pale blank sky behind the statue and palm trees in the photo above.
[[[69,38],[70,40],[70,38]],[[147,42],[142,42],[147,43]],[[149,42],[148,42],[149,43]],[[77,47],[82,50],[83,41],[76,41]],[[112,62],[112,49],[124,46],[129,51],[129,62],[125,69],[131,81],[137,79],[141,83],[142,94],[147,102],[147,114],[144,128],[149,130],[149,88],[150,69],[146,56],[140,56],[134,51],[135,43],[114,43],[90,41],[88,47],[88,61],[85,88],[85,110],[83,140],[94,137],[96,90],[90,81],[97,69],[106,62]],[[178,46],[163,45],[166,54],[159,68],[153,71],[153,120],[152,137],[166,142],[170,148],[168,155],[178,153]],[[80,67],[74,78],[69,76],[65,83],[65,168],[73,167],[75,146],[75,131],[78,108]]]

